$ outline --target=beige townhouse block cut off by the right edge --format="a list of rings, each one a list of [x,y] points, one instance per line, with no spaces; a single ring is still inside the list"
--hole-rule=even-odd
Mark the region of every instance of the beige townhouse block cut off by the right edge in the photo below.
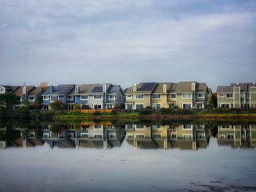
[[[230,83],[217,87],[217,104],[222,108],[256,108],[255,83]]]

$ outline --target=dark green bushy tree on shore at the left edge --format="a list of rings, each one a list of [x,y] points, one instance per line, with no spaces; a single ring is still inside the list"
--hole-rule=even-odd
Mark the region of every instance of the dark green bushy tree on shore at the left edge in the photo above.
[[[20,97],[12,93],[0,94],[0,104],[7,110],[13,109],[15,105],[20,104]]]

